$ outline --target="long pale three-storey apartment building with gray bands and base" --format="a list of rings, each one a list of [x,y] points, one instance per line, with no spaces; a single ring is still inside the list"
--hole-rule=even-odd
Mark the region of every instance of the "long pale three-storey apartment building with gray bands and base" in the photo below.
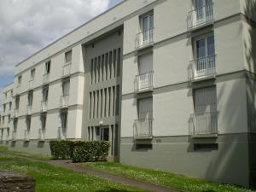
[[[107,140],[109,160],[253,185],[255,9],[119,3],[15,67],[2,144],[49,154],[52,139]]]

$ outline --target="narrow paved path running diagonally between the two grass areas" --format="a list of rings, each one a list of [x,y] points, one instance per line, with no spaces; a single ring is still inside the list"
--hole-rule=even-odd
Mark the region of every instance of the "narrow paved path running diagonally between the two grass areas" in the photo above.
[[[7,153],[7,154],[9,154],[9,153]],[[180,192],[180,191],[177,191],[174,189],[168,189],[168,188],[160,186],[160,185],[145,183],[145,182],[138,181],[136,179],[113,175],[108,172],[100,172],[100,171],[96,171],[94,169],[84,168],[84,167],[81,167],[81,166],[71,163],[70,160],[39,160],[36,158],[27,157],[26,155],[23,155],[23,154],[12,154],[12,155],[19,156],[19,157],[25,158],[26,160],[31,160],[31,161],[47,162],[51,165],[61,166],[63,168],[67,168],[74,172],[80,172],[80,173],[84,173],[84,174],[87,174],[90,176],[95,176],[95,177],[102,177],[102,178],[108,179],[108,180],[116,182],[116,183],[128,184],[128,185],[131,185],[131,186],[134,186],[137,188],[147,189],[148,191]]]

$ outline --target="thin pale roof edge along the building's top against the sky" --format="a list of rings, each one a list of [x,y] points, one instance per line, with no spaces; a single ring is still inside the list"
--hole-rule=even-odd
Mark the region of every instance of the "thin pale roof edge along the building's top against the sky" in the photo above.
[[[44,48],[42,48],[42,49],[39,49],[39,50],[38,50],[37,52],[35,52],[34,54],[28,56],[25,60],[20,61],[18,64],[15,65],[15,67],[20,66],[20,64],[22,64],[23,62],[25,62],[25,61],[29,60],[30,58],[32,58],[32,56],[37,55],[37,54],[38,54],[39,52],[41,52],[42,50],[48,48],[48,47],[51,46],[52,44],[55,44],[56,42],[58,42],[58,41],[61,40],[62,38],[67,37],[67,35],[69,35],[69,34],[75,32],[75,31],[79,30],[79,28],[81,28],[81,27],[87,25],[88,23],[92,22],[93,20],[96,20],[98,17],[100,17],[100,16],[102,16],[102,15],[108,13],[108,11],[110,11],[110,10],[112,10],[112,9],[114,9],[114,8],[116,8],[116,7],[118,7],[120,4],[125,3],[126,1],[128,1],[128,0],[123,0],[122,2],[120,2],[120,3],[116,4],[116,5],[114,5],[112,8],[110,8],[110,9],[108,9],[108,10],[102,12],[102,14],[97,15],[96,17],[94,17],[94,18],[92,18],[92,19],[86,21],[84,24],[82,24],[81,26],[78,26],[77,28],[73,29],[71,32],[67,32],[66,35],[62,36],[61,38],[57,38],[54,42],[52,42],[52,43],[46,45],[46,46],[45,46]],[[9,85],[9,84],[8,84],[8,85]],[[8,85],[6,85],[6,86],[8,86]]]

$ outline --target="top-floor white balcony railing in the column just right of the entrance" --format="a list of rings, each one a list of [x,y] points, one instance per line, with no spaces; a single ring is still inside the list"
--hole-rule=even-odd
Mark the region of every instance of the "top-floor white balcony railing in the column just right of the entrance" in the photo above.
[[[150,28],[143,32],[137,33],[137,36],[135,39],[136,49],[142,48],[150,44],[154,44],[154,28]]]

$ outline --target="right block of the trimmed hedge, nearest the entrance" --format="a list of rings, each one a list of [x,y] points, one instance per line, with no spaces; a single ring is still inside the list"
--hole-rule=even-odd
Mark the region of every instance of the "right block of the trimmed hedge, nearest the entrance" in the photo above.
[[[73,162],[107,160],[109,143],[106,141],[74,142]]]

